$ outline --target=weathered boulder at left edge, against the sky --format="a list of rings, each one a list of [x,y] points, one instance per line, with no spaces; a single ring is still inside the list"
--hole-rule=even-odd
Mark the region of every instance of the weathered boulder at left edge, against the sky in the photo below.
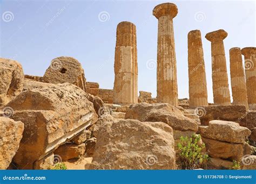
[[[0,108],[21,93],[24,74],[20,63],[0,58]]]

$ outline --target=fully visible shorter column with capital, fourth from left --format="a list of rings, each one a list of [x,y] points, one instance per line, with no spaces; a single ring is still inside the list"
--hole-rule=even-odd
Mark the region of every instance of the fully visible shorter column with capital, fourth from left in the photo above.
[[[207,33],[205,38],[212,46],[212,87],[214,105],[230,105],[227,66],[223,40],[227,37],[224,30]]]

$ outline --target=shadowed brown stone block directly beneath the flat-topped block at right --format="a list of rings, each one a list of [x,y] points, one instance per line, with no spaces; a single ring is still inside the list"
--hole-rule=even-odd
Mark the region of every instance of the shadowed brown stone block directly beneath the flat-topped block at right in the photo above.
[[[235,144],[202,137],[208,155],[212,158],[240,161],[246,154],[251,154],[251,148],[247,143]]]

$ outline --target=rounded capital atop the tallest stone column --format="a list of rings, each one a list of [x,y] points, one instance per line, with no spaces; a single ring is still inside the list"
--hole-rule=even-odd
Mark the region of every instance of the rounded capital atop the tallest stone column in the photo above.
[[[158,4],[153,9],[153,16],[159,19],[162,16],[171,16],[172,18],[176,17],[178,14],[178,8],[176,4],[173,3],[163,3]]]

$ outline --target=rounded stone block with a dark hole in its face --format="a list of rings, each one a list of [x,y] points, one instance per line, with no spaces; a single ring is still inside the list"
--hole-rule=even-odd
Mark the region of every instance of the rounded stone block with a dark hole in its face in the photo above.
[[[86,91],[84,69],[80,62],[72,57],[61,56],[53,59],[45,71],[43,80],[53,84],[69,82]]]

